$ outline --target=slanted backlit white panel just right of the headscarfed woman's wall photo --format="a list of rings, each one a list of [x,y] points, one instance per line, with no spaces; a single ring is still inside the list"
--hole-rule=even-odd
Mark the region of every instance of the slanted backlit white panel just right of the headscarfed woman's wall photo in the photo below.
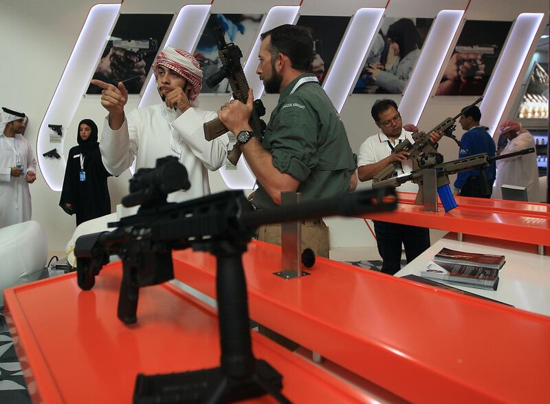
[[[403,123],[418,125],[463,14],[464,10],[441,10],[437,14],[399,104]]]

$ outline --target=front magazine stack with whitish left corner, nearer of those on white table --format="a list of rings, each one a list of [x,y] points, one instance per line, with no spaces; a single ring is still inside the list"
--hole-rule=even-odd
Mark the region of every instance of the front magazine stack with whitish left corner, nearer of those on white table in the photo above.
[[[470,288],[496,290],[498,286],[498,269],[483,266],[430,261],[420,276]]]

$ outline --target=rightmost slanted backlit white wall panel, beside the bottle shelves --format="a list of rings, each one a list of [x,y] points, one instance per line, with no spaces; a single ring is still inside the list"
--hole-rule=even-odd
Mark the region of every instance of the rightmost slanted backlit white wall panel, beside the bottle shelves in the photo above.
[[[483,125],[489,127],[489,134],[496,131],[503,116],[542,17],[544,17],[542,13],[522,13],[511,29],[508,41],[487,86],[485,98],[479,107],[483,116]]]

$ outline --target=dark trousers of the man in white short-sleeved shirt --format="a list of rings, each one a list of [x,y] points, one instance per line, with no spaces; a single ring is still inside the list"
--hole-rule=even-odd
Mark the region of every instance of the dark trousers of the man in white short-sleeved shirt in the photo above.
[[[382,272],[394,275],[401,269],[401,243],[405,246],[407,264],[430,247],[430,230],[406,224],[374,222]]]

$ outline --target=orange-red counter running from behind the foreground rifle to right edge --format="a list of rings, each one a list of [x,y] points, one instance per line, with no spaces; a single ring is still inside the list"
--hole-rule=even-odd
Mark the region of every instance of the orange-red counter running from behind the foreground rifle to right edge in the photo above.
[[[250,317],[412,402],[540,402],[550,317],[318,258],[285,280],[281,248],[243,257]],[[175,277],[215,297],[214,257],[174,253]]]

